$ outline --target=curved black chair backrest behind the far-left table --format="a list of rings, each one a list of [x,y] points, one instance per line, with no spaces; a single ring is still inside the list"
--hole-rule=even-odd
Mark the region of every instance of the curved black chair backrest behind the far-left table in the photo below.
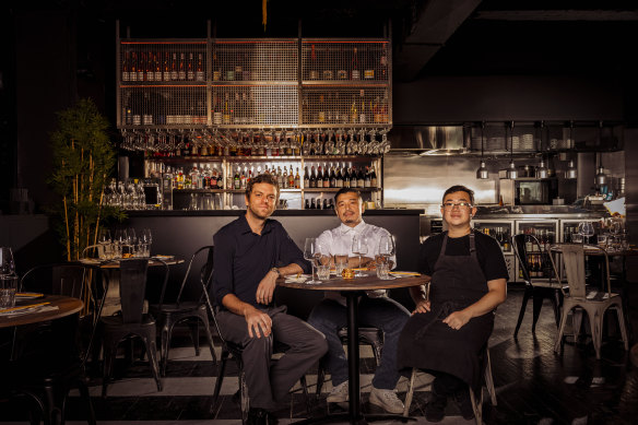
[[[19,292],[43,292],[82,299],[92,279],[91,268],[78,263],[40,264],[29,269],[20,280]]]

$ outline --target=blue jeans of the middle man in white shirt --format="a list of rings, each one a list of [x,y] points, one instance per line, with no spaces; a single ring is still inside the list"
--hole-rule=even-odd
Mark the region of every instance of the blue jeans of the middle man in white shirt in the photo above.
[[[410,318],[410,312],[401,304],[390,298],[362,297],[358,305],[358,322],[361,326],[371,326],[383,331],[383,351],[381,365],[375,373],[373,387],[392,390],[399,381],[397,370],[397,346],[403,326]],[[333,299],[323,299],[312,309],[308,323],[323,332],[330,351],[326,365],[332,375],[332,386],[347,380],[347,361],[338,332],[347,326],[346,308]]]

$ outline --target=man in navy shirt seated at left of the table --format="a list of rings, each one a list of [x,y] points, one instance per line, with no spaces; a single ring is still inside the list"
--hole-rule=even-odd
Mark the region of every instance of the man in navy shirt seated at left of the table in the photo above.
[[[270,220],[279,199],[276,180],[255,177],[246,188],[246,215],[213,237],[213,296],[222,338],[244,347],[250,423],[276,422],[269,412],[328,351],[326,338],[308,323],[274,307],[279,276],[309,272],[304,255],[281,223]],[[271,366],[273,342],[290,349]]]

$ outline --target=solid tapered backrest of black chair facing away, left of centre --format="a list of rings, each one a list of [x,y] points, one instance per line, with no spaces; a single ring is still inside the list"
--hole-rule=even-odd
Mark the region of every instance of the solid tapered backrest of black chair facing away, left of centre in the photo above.
[[[120,298],[125,323],[142,321],[147,269],[147,259],[133,258],[120,261]]]

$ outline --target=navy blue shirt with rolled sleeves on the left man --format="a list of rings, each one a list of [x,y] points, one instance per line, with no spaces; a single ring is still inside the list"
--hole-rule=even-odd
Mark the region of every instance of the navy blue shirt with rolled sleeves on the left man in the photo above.
[[[310,272],[304,252],[276,220],[268,219],[261,235],[258,235],[250,229],[246,215],[241,215],[222,227],[213,236],[213,297],[220,308],[224,308],[222,299],[228,294],[263,308],[257,304],[257,286],[273,267],[294,262],[305,273]]]

